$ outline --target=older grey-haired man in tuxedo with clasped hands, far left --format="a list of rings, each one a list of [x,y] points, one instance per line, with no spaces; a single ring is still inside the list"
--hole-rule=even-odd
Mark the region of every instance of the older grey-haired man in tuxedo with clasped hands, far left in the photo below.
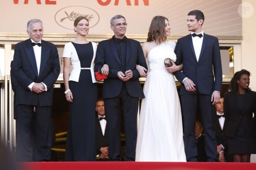
[[[49,161],[51,156],[53,84],[60,74],[60,61],[56,46],[42,40],[43,31],[41,20],[27,23],[30,39],[15,45],[11,68],[18,82],[16,151],[23,162]]]

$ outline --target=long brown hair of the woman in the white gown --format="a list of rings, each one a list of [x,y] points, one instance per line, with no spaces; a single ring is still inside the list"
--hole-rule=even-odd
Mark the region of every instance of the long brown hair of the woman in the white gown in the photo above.
[[[155,16],[149,26],[147,34],[147,42],[154,41],[156,43],[162,43],[166,41],[165,23],[168,19],[163,16]]]

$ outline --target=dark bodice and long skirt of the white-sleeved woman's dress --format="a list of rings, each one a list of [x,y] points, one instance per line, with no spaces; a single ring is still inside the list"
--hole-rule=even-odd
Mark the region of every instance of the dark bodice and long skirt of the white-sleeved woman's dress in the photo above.
[[[81,68],[90,68],[93,58],[92,43],[73,43]],[[96,160],[95,105],[97,83],[92,83],[90,69],[81,69],[79,82],[69,81],[73,102],[69,104],[69,125],[65,161]]]

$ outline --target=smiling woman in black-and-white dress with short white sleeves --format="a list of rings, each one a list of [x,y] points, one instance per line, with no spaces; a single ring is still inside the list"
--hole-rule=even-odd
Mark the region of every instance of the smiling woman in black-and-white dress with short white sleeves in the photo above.
[[[77,17],[74,30],[76,38],[65,44],[63,52],[64,94],[70,110],[65,161],[94,161],[98,87],[93,69],[97,45],[86,39],[89,31],[87,18]],[[73,69],[69,75],[70,63]],[[107,75],[108,65],[102,67],[102,72]]]

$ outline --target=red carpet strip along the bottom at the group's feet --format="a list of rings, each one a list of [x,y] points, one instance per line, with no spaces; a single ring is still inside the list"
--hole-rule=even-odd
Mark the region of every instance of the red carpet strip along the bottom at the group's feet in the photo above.
[[[20,170],[256,170],[256,163],[30,162]]]

